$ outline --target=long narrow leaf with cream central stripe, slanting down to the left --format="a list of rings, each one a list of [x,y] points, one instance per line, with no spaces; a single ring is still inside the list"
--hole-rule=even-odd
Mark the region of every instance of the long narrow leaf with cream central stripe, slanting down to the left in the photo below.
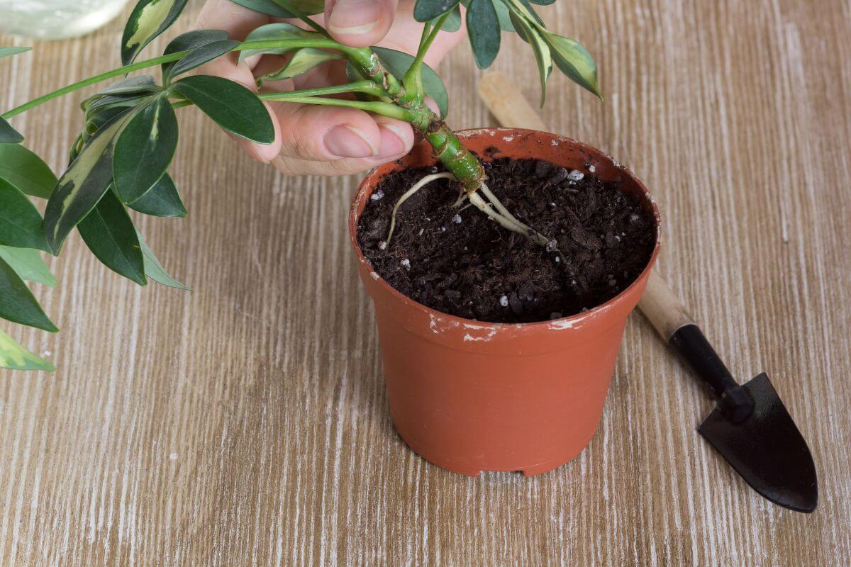
[[[131,116],[130,111],[124,111],[112,118],[62,173],[44,211],[44,232],[54,253],[59,253],[67,235],[109,189],[116,135]]]

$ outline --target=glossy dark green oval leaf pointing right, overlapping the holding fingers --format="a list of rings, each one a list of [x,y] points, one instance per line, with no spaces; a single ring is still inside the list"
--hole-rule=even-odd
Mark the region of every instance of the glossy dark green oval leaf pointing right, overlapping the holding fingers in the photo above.
[[[172,88],[230,133],[260,144],[271,144],[275,139],[266,106],[238,82],[195,75],[180,79]]]

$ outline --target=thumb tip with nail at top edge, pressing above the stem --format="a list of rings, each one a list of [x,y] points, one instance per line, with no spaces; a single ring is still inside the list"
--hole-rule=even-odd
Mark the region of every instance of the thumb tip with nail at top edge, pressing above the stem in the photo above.
[[[338,42],[353,48],[379,43],[390,30],[398,0],[328,0],[325,27]]]

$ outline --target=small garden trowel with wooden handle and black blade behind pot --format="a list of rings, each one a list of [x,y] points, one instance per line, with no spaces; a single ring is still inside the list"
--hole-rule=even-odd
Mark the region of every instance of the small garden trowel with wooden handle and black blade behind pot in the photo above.
[[[479,95],[503,126],[547,129],[508,78],[483,77]],[[813,512],[819,498],[813,457],[768,376],[737,383],[659,274],[650,275],[638,308],[718,398],[700,434],[759,494],[791,510]]]

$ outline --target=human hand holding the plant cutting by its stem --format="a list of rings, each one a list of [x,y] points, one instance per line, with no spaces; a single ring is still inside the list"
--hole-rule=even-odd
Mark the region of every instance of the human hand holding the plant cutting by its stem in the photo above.
[[[317,15],[328,32],[351,47],[380,45],[414,54],[422,24],[414,20],[414,0],[326,0],[325,14]],[[198,16],[203,29],[226,30],[231,39],[243,40],[255,28],[281,20],[243,8],[230,0],[208,0]],[[426,54],[434,66],[465,37],[460,31],[442,31]],[[257,90],[254,77],[281,66],[278,55],[256,55],[237,63],[228,54],[204,68]],[[344,83],[346,61],[331,61],[313,71],[264,85],[264,90],[284,92]],[[408,122],[374,116],[352,108],[302,105],[267,101],[275,126],[275,141],[259,145],[246,139],[237,143],[260,162],[271,162],[283,173],[346,175],[366,171],[408,153],[414,145],[414,130]]]

